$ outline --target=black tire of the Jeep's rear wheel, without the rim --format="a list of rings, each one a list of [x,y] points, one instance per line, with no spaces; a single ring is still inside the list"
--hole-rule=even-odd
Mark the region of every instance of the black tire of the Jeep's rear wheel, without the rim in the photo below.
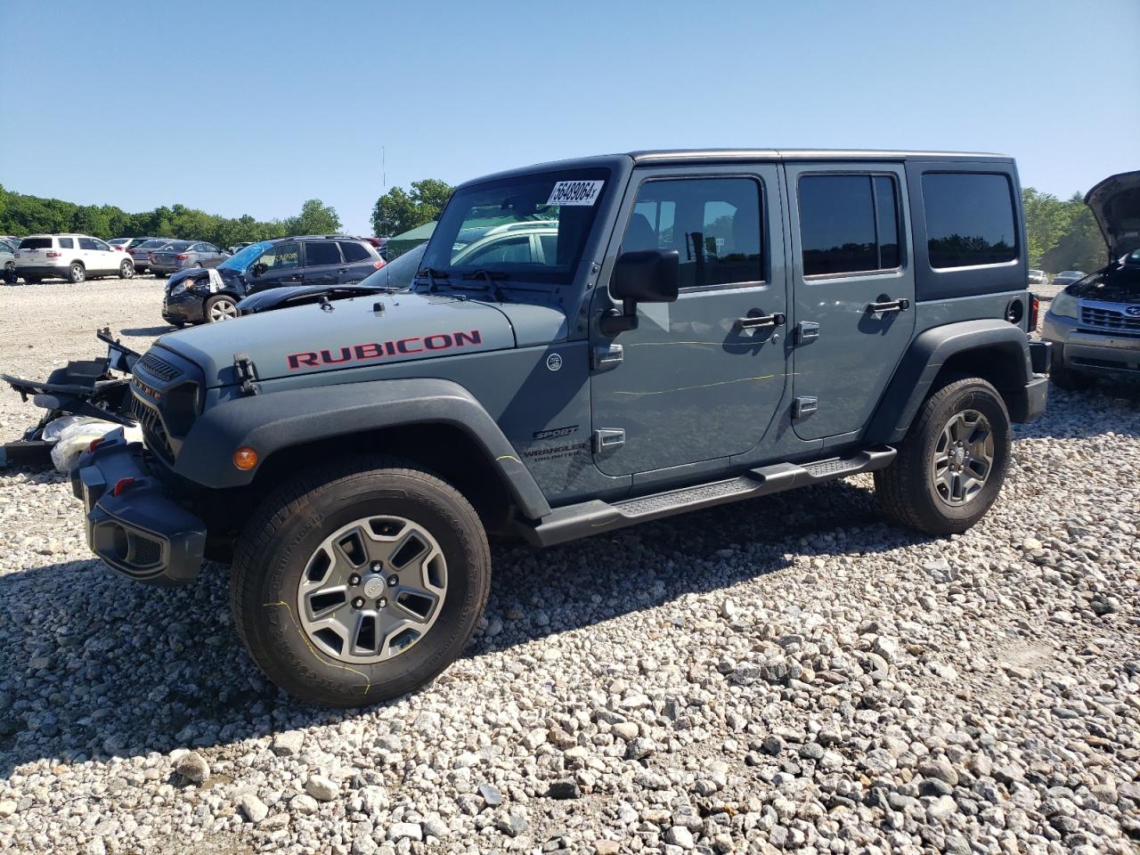
[[[961,505],[939,496],[931,474],[943,429],[958,413],[974,410],[988,421],[993,437],[993,461],[977,495]],[[966,531],[990,510],[1005,479],[1010,447],[1009,410],[997,390],[980,377],[963,377],[935,391],[919,410],[898,446],[898,456],[874,473],[874,491],[886,515],[894,522],[928,535]]]

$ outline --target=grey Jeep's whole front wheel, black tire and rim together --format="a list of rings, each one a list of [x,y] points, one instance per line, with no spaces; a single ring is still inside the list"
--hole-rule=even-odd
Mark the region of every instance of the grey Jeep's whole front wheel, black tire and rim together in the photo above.
[[[293,697],[328,707],[431,681],[463,651],[489,589],[487,536],[463,495],[365,455],[283,484],[246,526],[230,573],[250,656]]]

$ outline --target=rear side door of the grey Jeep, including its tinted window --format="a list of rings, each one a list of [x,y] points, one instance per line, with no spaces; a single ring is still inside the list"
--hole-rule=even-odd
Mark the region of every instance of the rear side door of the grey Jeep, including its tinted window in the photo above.
[[[800,439],[870,420],[914,329],[902,164],[789,163]]]

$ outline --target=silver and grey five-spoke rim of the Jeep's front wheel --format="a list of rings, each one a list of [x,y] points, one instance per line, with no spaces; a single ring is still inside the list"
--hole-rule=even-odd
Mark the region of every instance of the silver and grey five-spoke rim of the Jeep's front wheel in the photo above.
[[[342,662],[393,659],[434,625],[447,595],[447,560],[423,526],[365,516],[314,551],[298,584],[296,609],[310,644]]]

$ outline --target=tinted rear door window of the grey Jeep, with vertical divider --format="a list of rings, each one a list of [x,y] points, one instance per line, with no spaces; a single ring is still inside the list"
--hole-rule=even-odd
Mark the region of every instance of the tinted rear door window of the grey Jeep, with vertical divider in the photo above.
[[[899,264],[893,176],[800,176],[804,276],[891,270]]]

